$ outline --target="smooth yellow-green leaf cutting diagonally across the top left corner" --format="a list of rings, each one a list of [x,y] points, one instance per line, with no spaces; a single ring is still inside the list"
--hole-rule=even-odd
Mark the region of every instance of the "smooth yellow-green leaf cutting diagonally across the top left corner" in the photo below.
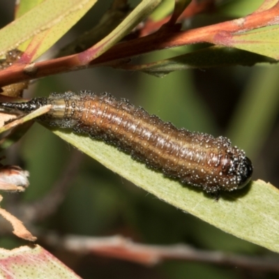
[[[34,35],[50,29],[89,0],[45,0],[0,30],[0,56]]]

